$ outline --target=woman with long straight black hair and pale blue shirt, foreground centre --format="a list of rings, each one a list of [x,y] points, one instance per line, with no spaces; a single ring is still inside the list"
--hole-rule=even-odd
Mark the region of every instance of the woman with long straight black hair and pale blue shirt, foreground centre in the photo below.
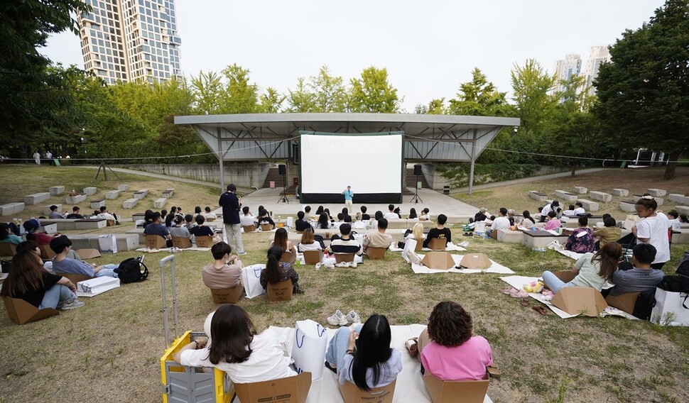
[[[402,370],[402,356],[391,348],[391,340],[388,319],[373,314],[363,325],[337,329],[325,353],[325,365],[337,373],[340,385],[352,382],[364,391],[384,387]]]

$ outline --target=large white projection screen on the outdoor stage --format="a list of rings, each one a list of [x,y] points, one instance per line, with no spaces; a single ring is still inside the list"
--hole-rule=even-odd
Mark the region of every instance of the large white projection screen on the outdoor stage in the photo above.
[[[300,200],[344,202],[352,187],[354,203],[399,203],[402,199],[403,133],[300,136]]]

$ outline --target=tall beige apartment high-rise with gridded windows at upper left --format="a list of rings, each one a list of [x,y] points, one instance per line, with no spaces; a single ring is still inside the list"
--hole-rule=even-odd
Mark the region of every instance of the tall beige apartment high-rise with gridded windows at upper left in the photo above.
[[[108,84],[182,77],[174,0],[85,0],[79,16],[85,70]]]

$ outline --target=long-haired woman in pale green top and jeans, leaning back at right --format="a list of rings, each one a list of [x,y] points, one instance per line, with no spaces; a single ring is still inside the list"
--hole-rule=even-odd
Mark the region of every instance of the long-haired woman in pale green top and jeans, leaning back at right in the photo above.
[[[605,282],[612,279],[612,273],[617,270],[621,256],[622,245],[617,242],[606,243],[595,254],[585,253],[577,260],[572,269],[573,272],[577,272],[574,280],[563,282],[553,272],[546,270],[543,272],[543,282],[554,293],[563,287],[592,287],[600,291]]]

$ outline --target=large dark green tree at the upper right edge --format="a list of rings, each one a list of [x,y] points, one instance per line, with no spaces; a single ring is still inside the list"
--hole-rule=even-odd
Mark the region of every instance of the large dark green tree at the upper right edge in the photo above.
[[[649,23],[622,33],[594,82],[595,113],[622,144],[670,154],[663,179],[689,150],[689,1],[667,0]]]

